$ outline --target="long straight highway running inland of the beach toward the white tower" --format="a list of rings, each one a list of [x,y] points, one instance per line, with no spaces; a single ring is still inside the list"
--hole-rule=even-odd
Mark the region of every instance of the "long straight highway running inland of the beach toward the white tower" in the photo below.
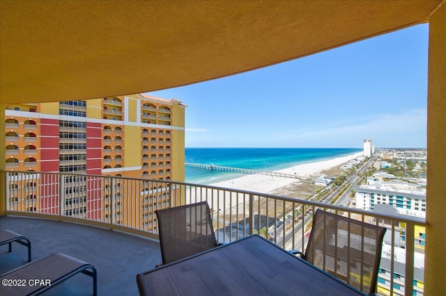
[[[346,204],[348,204],[347,200],[348,200],[348,195],[351,192],[351,189],[355,188],[357,182],[361,180],[362,174],[373,163],[374,158],[375,158],[374,156],[371,156],[371,158],[369,158],[369,160],[366,163],[364,163],[358,170],[356,170],[353,174],[351,174],[351,176],[348,176],[346,181],[341,186],[338,186],[338,188],[336,188],[336,190],[334,190],[330,194],[330,196],[328,196],[328,198],[326,198],[324,200],[324,202],[325,203],[330,202],[330,200],[339,193],[341,188],[346,187],[346,190],[342,193],[342,195],[334,203],[336,205],[341,205],[341,206],[344,205],[344,206],[346,206]],[[305,215],[304,225],[306,225],[311,220],[312,220],[312,215],[309,215],[309,214]],[[282,224],[279,227],[277,227],[277,232],[276,232],[277,236],[276,236],[276,240],[275,240],[275,243],[277,245],[282,247],[282,244],[284,242],[284,239],[283,239],[284,229],[283,229],[283,227],[289,227],[289,225],[291,223],[293,223],[292,219],[285,219],[284,220],[284,224]],[[290,249],[295,249],[296,247],[298,249],[301,248],[301,246],[302,246],[302,220],[299,220],[299,222],[295,223],[294,231],[295,231],[295,233],[294,233],[295,234],[295,246],[293,246],[293,229],[291,228],[289,231],[286,231],[286,233],[285,233],[285,246],[284,246],[285,249],[289,249],[290,250]],[[307,238],[305,238],[305,243],[306,242],[307,242]]]

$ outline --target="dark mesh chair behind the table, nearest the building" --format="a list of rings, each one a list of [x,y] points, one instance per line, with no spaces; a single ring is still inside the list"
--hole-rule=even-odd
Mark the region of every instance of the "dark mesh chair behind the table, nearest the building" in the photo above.
[[[162,264],[217,246],[208,202],[165,208],[155,213],[160,233]]]

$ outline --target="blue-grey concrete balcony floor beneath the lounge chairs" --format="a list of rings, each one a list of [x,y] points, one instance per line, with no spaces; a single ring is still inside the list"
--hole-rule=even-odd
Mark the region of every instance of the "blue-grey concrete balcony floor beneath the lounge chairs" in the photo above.
[[[32,261],[63,253],[95,266],[98,295],[139,295],[136,276],[161,262],[160,243],[150,238],[70,222],[0,217],[0,228],[31,240]],[[27,248],[13,242],[0,247],[0,274],[28,263]],[[45,279],[45,274],[36,274]],[[1,292],[1,287],[0,287]],[[76,274],[43,295],[92,295],[93,280]]]

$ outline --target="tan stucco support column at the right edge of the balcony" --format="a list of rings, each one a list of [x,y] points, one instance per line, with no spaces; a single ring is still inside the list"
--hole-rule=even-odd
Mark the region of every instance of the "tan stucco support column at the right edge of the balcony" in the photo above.
[[[424,295],[446,291],[446,2],[442,4],[429,17]]]

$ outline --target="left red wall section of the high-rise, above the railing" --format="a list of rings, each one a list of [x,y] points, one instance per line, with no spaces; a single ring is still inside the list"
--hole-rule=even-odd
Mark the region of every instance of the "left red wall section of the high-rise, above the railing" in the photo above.
[[[40,120],[40,170],[59,172],[59,120]]]

